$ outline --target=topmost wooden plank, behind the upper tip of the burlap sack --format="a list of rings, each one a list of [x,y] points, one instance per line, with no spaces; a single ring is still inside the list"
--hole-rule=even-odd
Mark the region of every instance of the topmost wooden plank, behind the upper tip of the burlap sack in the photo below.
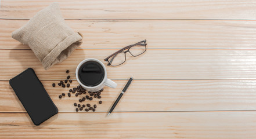
[[[53,1],[5,0],[0,18],[29,19]],[[57,0],[66,19],[252,19],[255,1]]]

